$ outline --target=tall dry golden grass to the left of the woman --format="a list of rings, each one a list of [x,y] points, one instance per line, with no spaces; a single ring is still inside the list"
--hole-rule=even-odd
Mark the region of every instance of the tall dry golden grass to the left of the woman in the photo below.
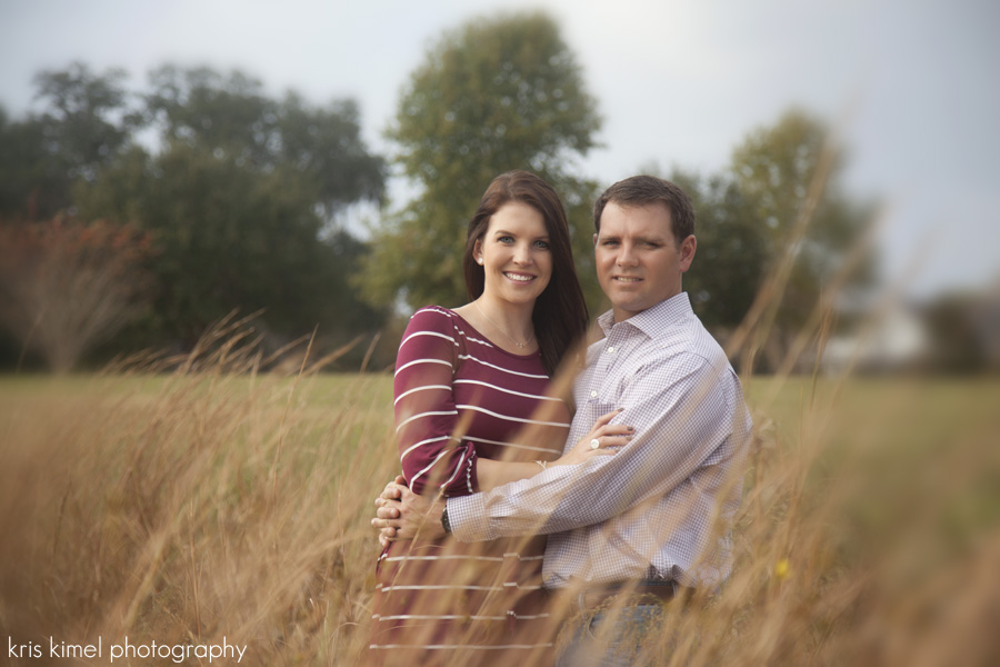
[[[241,334],[217,331],[168,378],[7,384],[0,627],[14,645],[102,637],[93,664],[124,637],[224,636],[251,665],[358,655],[370,497],[397,467],[391,388],[256,375]]]

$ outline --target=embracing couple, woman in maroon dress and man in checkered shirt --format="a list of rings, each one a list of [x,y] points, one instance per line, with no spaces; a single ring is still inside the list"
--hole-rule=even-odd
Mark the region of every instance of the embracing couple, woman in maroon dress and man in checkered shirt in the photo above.
[[[667,605],[729,573],[751,424],[681,289],[691,200],[639,176],[593,210],[611,310],[586,349],[566,211],[524,171],[469,222],[473,300],[410,319],[403,475],[372,520],[374,664],[633,664]]]

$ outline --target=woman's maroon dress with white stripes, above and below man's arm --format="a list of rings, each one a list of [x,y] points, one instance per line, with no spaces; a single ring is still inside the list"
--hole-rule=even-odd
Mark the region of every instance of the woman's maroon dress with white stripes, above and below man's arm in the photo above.
[[[417,492],[479,490],[480,457],[551,460],[569,410],[546,396],[541,357],[512,355],[456,312],[417,311],[396,362],[403,475]],[[544,536],[462,544],[420,535],[382,552],[369,659],[386,665],[550,664]]]

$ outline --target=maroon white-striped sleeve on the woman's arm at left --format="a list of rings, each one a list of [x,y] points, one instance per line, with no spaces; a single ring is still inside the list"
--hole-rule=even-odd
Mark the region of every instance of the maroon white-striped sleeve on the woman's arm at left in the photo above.
[[[443,489],[468,495],[478,487],[476,449],[456,438],[459,412],[453,378],[460,358],[451,317],[437,308],[417,311],[396,361],[396,437],[403,477],[418,494]]]

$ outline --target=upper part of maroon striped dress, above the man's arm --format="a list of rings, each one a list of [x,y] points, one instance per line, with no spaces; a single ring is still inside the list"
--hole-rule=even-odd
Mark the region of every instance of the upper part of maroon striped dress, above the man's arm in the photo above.
[[[403,476],[424,494],[479,490],[479,457],[553,459],[569,411],[546,396],[539,352],[500,349],[458,313],[429,306],[413,313],[396,361],[397,441]],[[532,431],[530,441],[524,430]]]

